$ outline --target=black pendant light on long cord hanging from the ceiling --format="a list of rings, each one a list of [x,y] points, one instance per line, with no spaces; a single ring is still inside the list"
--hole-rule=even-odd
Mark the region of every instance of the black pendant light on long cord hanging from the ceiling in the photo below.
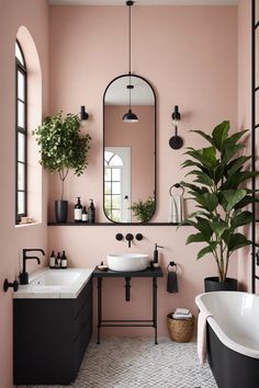
[[[126,1],[126,5],[128,7],[128,76],[130,76],[130,84],[127,85],[128,89],[128,98],[130,98],[130,106],[128,106],[128,112],[126,112],[122,119],[124,123],[137,123],[138,118],[137,115],[132,112],[132,89],[134,89],[134,85],[132,84],[132,79],[131,79],[131,65],[132,65],[132,13],[131,13],[131,8],[134,4],[134,1]]]

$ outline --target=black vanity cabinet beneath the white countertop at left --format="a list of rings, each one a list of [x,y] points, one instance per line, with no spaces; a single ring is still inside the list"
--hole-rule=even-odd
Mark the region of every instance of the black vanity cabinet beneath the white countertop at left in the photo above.
[[[92,334],[92,279],[75,299],[13,299],[14,385],[68,385]]]

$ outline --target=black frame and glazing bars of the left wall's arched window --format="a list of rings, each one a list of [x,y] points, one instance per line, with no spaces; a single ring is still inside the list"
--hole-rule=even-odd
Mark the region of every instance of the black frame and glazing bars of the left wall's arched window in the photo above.
[[[18,59],[15,55],[15,224],[21,221],[21,217],[27,216],[27,70],[26,70],[26,62],[25,57],[23,54],[23,49],[19,41],[15,41],[18,44],[19,49],[21,52],[23,64]],[[24,77],[24,101],[19,99],[18,94],[18,77],[19,72],[21,72]],[[19,101],[24,103],[24,128],[18,125],[18,117],[19,117]],[[19,161],[19,134],[24,135],[24,161]],[[18,187],[18,178],[19,178],[19,163],[24,164],[24,182],[23,182],[23,190]],[[18,204],[19,204],[19,193],[24,193],[24,212],[18,212]]]

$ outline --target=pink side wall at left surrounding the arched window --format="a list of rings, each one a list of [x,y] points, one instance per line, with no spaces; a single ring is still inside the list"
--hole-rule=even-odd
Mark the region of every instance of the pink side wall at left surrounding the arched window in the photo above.
[[[43,114],[48,111],[48,8],[45,0],[0,0],[0,386],[12,387],[12,292],[2,290],[7,277],[12,282],[20,271],[22,248],[47,247],[46,190],[47,180],[43,176],[43,205],[38,219],[42,222],[25,227],[14,226],[14,43],[20,26],[25,26],[40,57],[43,90],[41,103]],[[38,95],[40,98],[40,95]],[[35,106],[34,106],[35,111]],[[34,184],[38,184],[36,181]],[[31,194],[30,194],[31,195]],[[40,198],[38,198],[40,199]],[[44,264],[44,261],[43,261]],[[35,270],[34,263],[29,270]]]

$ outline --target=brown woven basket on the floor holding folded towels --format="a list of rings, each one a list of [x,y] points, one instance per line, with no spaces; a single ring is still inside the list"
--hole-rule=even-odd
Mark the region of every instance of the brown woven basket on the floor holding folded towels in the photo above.
[[[173,319],[172,312],[167,316],[167,328],[170,339],[174,342],[189,342],[193,334],[194,317]]]

